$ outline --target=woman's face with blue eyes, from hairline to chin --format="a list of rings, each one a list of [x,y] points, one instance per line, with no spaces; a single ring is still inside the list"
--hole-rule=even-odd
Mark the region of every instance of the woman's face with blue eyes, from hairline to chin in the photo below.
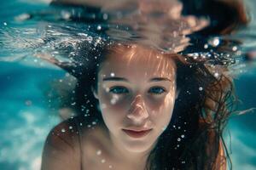
[[[169,124],[177,97],[172,57],[138,46],[109,54],[97,86],[95,96],[111,139],[133,152],[152,147]],[[127,130],[148,133],[134,137]]]

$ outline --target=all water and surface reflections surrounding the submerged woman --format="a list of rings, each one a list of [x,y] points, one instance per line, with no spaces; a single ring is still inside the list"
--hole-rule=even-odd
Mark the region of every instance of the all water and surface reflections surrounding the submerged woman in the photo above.
[[[143,0],[139,5],[136,0],[74,2],[1,3],[1,170],[41,169],[50,130],[77,115],[73,108],[78,104],[70,97],[75,93],[74,77],[81,76],[86,72],[84,68],[92,65],[90,59],[79,56],[93,55],[87,48],[96,51],[103,43],[113,42],[137,42],[162,54],[186,55],[188,60],[198,59],[210,65],[214,77],[220,71],[232,77],[236,104],[230,107],[236,106],[226,122],[223,138],[232,169],[256,169],[255,1],[242,1],[247,24],[226,35],[204,29],[214,27],[214,20],[203,14],[189,14],[192,4],[185,0]],[[167,17],[163,12],[166,8],[172,8]],[[228,71],[211,65],[225,65]],[[199,91],[202,90],[200,87]],[[111,100],[112,104],[115,102],[116,99]],[[82,110],[86,116],[86,108]],[[91,122],[87,127],[95,125],[96,122]]]

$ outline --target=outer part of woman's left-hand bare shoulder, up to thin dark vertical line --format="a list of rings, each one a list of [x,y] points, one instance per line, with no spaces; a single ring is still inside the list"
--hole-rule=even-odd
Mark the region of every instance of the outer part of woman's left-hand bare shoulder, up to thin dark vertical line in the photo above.
[[[79,164],[79,129],[72,120],[61,122],[45,140],[41,169],[79,169]]]

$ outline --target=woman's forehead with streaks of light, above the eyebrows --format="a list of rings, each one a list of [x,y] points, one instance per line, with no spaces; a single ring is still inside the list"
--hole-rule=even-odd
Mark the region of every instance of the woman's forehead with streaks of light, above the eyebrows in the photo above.
[[[152,48],[131,46],[116,48],[102,63],[100,74],[115,77],[169,77],[175,75],[176,65],[171,55]]]

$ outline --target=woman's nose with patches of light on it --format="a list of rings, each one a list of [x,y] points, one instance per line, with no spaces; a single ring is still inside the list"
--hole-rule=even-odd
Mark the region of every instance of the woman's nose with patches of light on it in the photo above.
[[[146,110],[143,96],[141,94],[138,94],[131,102],[131,108],[127,114],[127,117],[137,124],[140,124],[148,118],[148,111]]]

